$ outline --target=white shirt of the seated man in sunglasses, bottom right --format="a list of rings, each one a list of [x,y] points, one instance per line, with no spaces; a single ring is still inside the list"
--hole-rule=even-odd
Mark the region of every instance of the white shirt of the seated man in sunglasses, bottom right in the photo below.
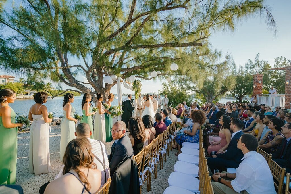
[[[231,181],[233,189],[240,193],[275,194],[273,176],[265,158],[255,152],[244,154],[236,169],[236,178]]]

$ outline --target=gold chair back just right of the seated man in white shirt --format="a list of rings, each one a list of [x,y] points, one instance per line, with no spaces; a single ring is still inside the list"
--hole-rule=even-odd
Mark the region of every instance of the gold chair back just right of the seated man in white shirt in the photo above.
[[[279,166],[271,158],[272,156],[269,156],[268,165],[274,178],[274,185],[277,188],[278,193],[281,194],[283,191],[286,169]]]

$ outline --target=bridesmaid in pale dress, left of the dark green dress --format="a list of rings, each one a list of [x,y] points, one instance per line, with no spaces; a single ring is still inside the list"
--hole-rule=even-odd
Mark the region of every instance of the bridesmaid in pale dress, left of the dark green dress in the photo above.
[[[102,105],[103,95],[97,93],[97,105],[98,108],[95,114],[94,120],[94,139],[99,140],[103,143],[106,142],[106,129],[105,129],[105,115],[104,113],[108,113],[108,110],[104,111],[104,107]]]

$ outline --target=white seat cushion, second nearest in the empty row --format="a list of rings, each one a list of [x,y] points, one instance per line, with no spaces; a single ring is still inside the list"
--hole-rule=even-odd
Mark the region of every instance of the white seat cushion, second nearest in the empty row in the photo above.
[[[193,193],[198,192],[199,180],[182,172],[172,172],[168,178],[169,186],[181,187]]]

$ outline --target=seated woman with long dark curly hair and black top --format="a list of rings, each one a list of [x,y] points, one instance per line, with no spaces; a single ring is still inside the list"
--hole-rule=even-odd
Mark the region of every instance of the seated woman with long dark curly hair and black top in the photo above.
[[[133,155],[136,155],[143,149],[144,145],[147,146],[150,144],[150,133],[148,130],[146,131],[147,133],[145,132],[145,127],[139,117],[132,117],[129,119],[128,130],[128,137],[131,141]]]

